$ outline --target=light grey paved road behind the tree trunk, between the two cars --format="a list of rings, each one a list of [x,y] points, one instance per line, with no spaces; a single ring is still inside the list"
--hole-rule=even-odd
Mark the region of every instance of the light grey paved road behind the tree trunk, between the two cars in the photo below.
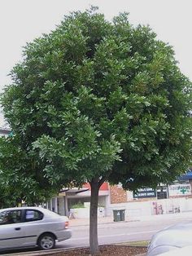
[[[192,221],[192,213],[169,214],[169,216],[155,216],[155,218],[120,223],[98,224],[98,243],[107,245],[124,241],[150,240],[151,236],[164,227],[181,221]],[[72,227],[72,238],[57,245],[57,248],[70,248],[89,245],[89,227]]]

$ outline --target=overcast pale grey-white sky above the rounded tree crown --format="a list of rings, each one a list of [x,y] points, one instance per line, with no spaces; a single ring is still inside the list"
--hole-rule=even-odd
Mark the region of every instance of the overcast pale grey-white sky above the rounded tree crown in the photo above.
[[[182,73],[192,81],[191,0],[0,0],[0,90],[11,82],[7,74],[21,60],[26,42],[55,29],[69,11],[91,5],[108,20],[129,11],[132,24],[150,24],[159,39],[173,46]]]

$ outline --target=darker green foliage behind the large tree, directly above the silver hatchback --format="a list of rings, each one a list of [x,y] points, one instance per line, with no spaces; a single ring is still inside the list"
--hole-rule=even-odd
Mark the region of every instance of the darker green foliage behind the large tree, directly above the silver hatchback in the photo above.
[[[45,202],[57,192],[37,169],[37,159],[20,146],[20,139],[0,138],[0,208]]]

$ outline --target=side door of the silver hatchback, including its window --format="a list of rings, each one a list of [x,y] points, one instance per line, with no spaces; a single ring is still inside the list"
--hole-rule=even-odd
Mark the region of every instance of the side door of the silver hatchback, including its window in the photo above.
[[[0,213],[0,249],[24,245],[22,210],[5,210]]]

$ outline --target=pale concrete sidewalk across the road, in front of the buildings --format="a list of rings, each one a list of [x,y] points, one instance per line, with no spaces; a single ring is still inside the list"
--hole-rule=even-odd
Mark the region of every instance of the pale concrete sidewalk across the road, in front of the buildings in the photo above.
[[[178,220],[189,220],[192,221],[192,212],[181,212],[175,214],[159,214],[159,215],[149,215],[149,216],[136,216],[128,217],[125,216],[124,222],[137,222],[137,221],[160,221],[165,219],[178,219]],[[69,220],[71,227],[78,226],[89,226],[89,218],[72,218]],[[113,220],[113,217],[102,217],[98,218],[98,225],[103,223],[116,223]]]

